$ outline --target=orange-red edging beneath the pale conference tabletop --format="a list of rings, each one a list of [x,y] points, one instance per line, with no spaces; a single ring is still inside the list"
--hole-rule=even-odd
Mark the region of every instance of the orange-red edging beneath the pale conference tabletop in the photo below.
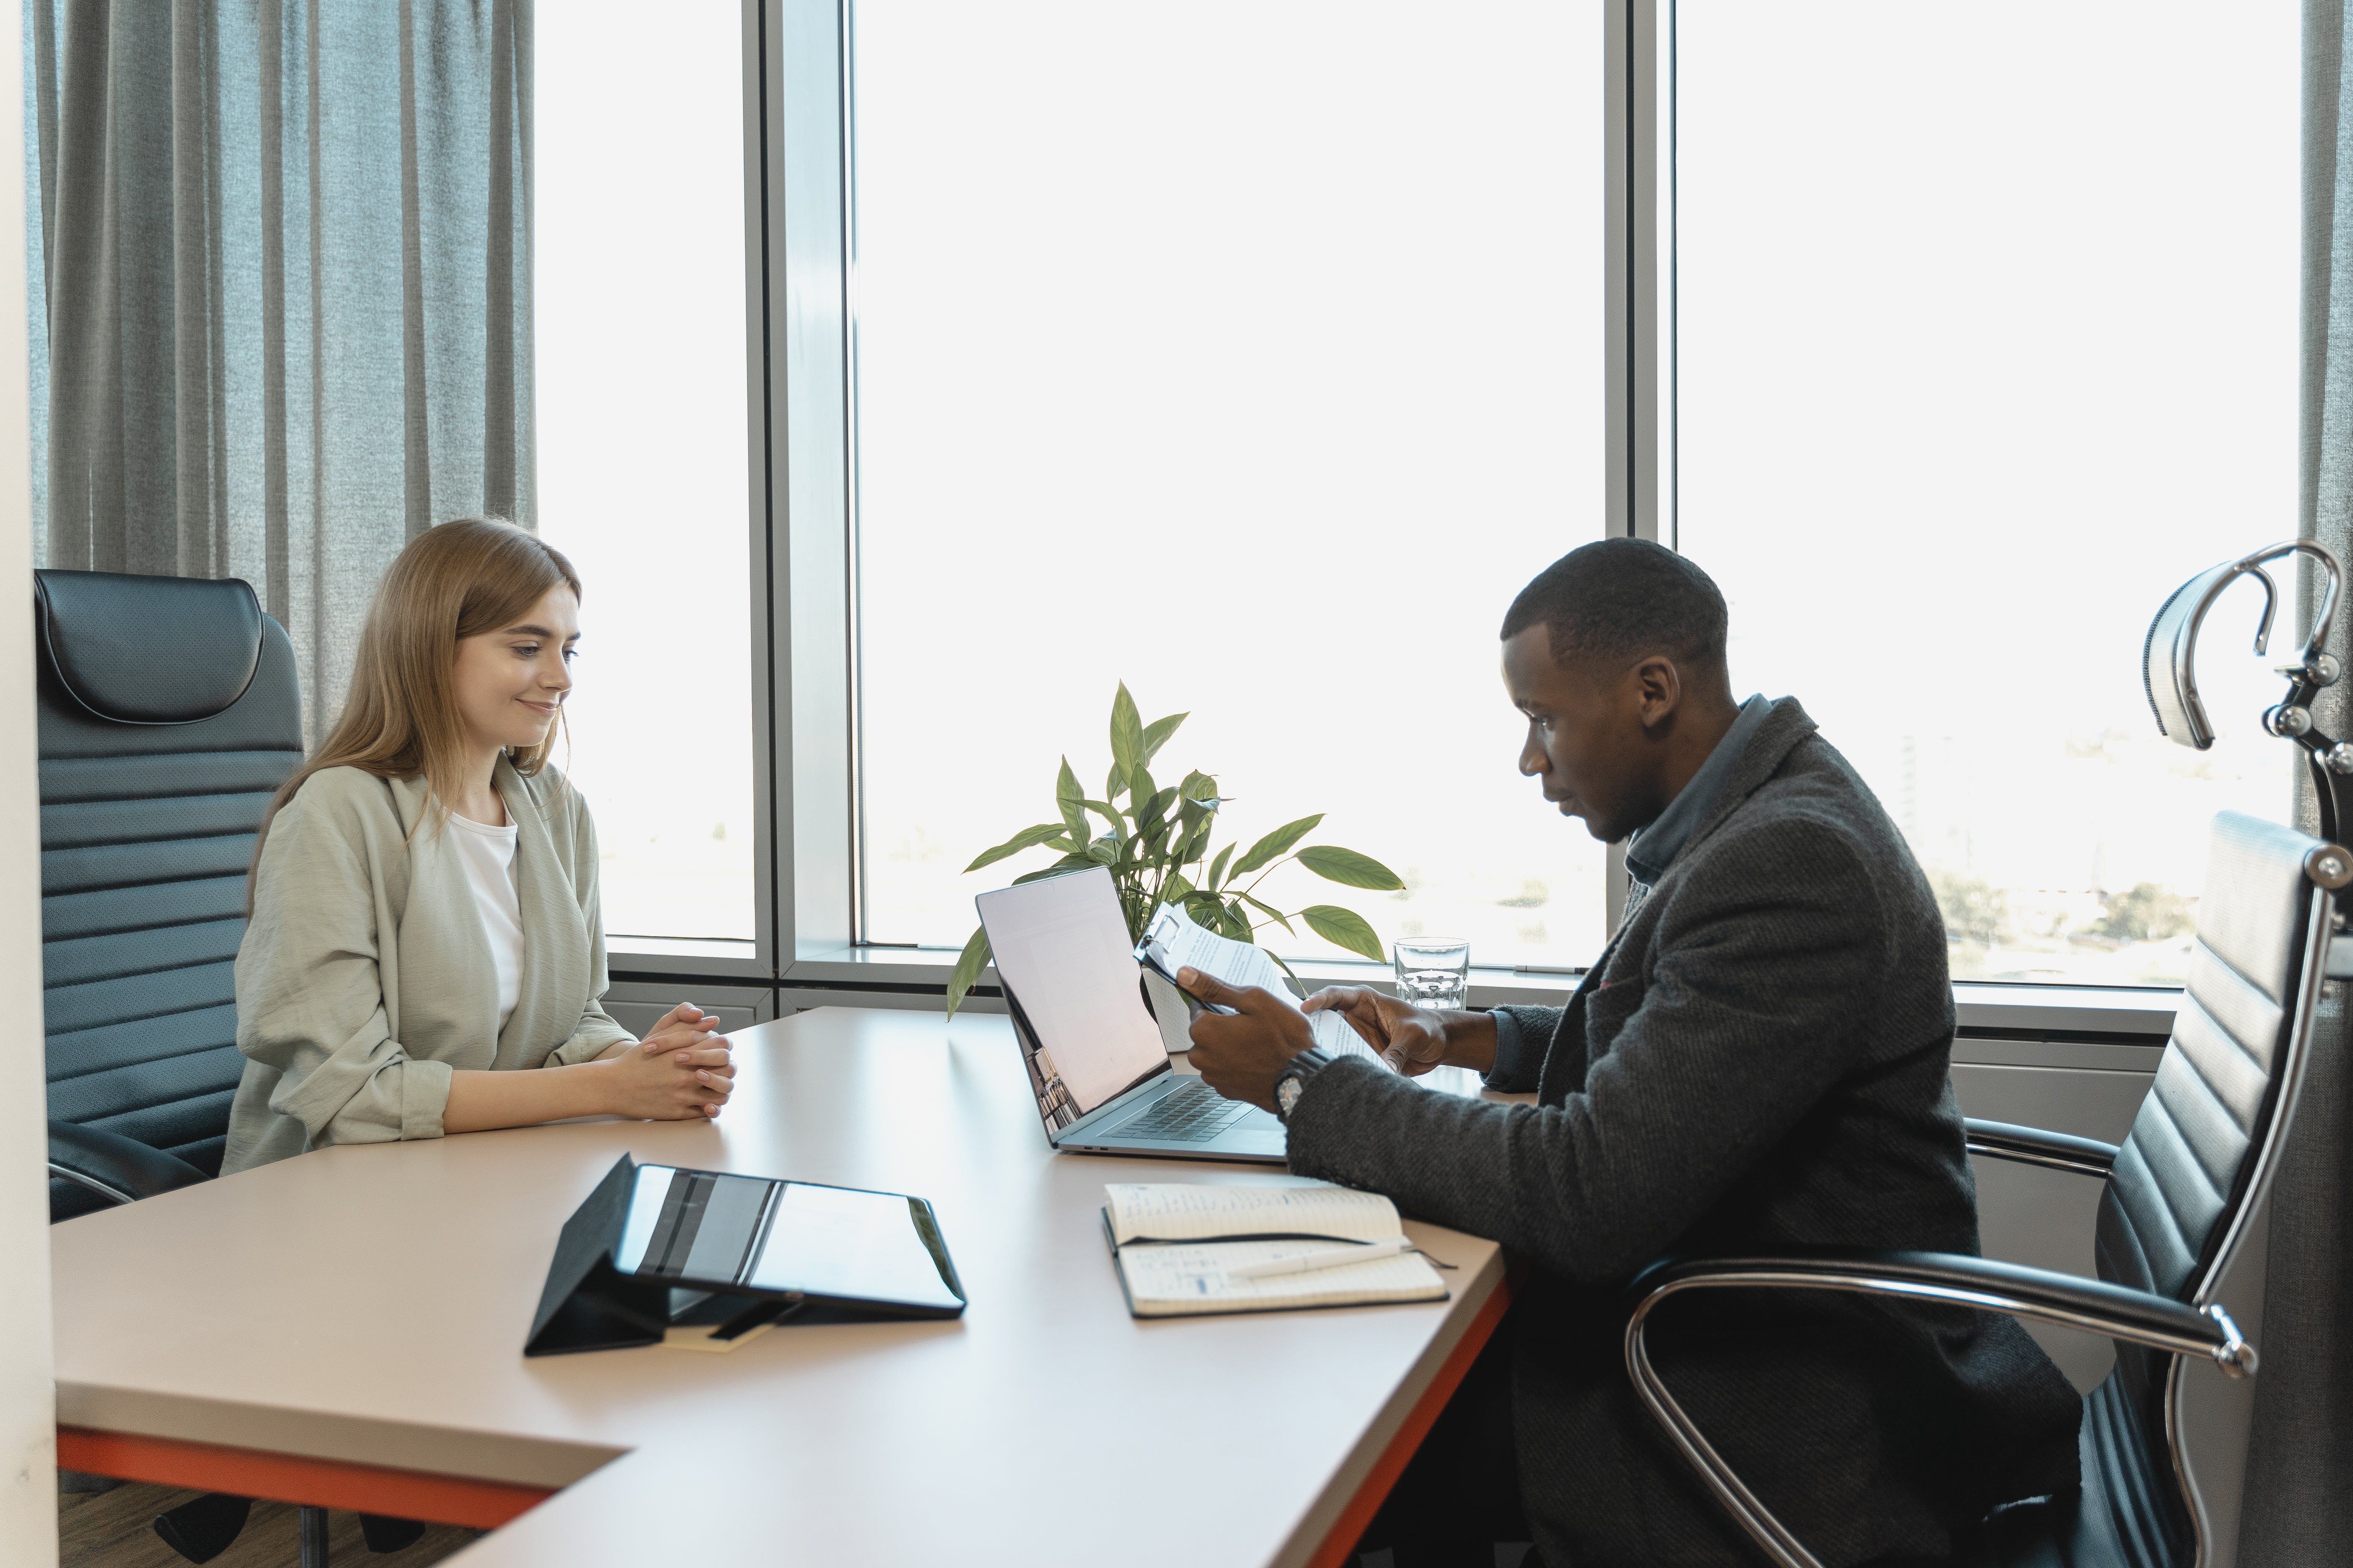
[[[1398,1427],[1388,1448],[1381,1450],[1381,1458],[1355,1490],[1355,1497],[1348,1500],[1325,1544],[1308,1559],[1308,1568],[1341,1568],[1348,1561],[1355,1540],[1372,1523],[1372,1516],[1381,1512],[1388,1490],[1405,1474],[1405,1465],[1421,1448],[1421,1439],[1431,1434],[1438,1413],[1447,1408],[1454,1389],[1461,1387],[1471,1363],[1478,1361],[1487,1340],[1494,1338],[1508,1307],[1511,1279],[1506,1276],[1478,1309],[1478,1316],[1471,1319],[1464,1338],[1447,1354],[1445,1366],[1431,1378],[1431,1387],[1414,1401],[1405,1425]],[[127,1432],[94,1432],[89,1427],[56,1429],[56,1462],[64,1469],[118,1476],[122,1481],[188,1486],[207,1493],[304,1502],[353,1514],[391,1514],[393,1519],[424,1519],[475,1530],[496,1530],[501,1523],[555,1495],[553,1488],[544,1486],[468,1481],[421,1469],[311,1460],[292,1453],[224,1448],[219,1443],[188,1443]]]

